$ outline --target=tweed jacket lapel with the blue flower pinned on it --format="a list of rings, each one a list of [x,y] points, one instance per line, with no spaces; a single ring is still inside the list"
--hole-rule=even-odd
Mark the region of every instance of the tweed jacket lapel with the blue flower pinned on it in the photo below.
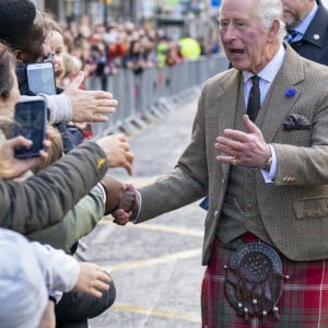
[[[283,118],[291,110],[300,96],[297,83],[304,80],[303,65],[300,56],[286,45],[285,60],[272,82],[256,121],[265,140],[272,142],[282,126]],[[286,90],[295,90],[295,94],[286,96]],[[272,96],[274,94],[274,97]]]

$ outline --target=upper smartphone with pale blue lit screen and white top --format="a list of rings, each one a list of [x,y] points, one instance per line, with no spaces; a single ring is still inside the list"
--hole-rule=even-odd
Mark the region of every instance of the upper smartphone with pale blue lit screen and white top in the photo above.
[[[55,71],[52,62],[35,62],[26,66],[28,89],[34,94],[56,94]]]

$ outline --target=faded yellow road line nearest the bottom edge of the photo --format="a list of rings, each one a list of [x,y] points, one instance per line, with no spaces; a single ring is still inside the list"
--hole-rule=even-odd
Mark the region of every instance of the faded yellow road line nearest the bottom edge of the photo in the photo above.
[[[110,309],[115,311],[124,311],[124,312],[132,312],[138,314],[143,314],[148,316],[157,316],[164,318],[172,318],[178,320],[185,320],[188,323],[196,323],[201,324],[200,316],[190,313],[180,313],[180,312],[173,312],[173,311],[164,311],[157,308],[150,308],[150,307],[141,307],[136,305],[124,305],[124,304],[114,304]]]

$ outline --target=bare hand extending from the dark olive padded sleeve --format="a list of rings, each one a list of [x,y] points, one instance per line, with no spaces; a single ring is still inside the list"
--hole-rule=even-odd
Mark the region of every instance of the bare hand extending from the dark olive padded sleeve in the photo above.
[[[96,143],[105,151],[109,167],[124,167],[132,175],[133,154],[126,137],[112,134],[98,139]]]

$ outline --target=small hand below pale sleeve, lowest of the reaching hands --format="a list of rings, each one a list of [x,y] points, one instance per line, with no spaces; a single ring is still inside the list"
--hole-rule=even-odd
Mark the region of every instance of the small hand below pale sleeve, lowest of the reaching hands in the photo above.
[[[80,274],[73,291],[102,297],[101,291],[109,289],[110,277],[95,263],[79,262],[79,265]]]

